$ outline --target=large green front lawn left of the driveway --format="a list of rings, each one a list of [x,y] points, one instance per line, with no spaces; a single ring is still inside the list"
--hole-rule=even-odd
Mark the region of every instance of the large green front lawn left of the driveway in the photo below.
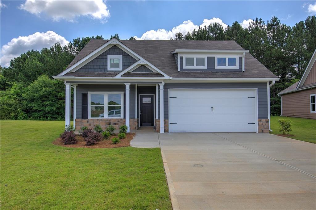
[[[171,209],[156,149],[66,148],[64,121],[1,121],[2,209]]]

